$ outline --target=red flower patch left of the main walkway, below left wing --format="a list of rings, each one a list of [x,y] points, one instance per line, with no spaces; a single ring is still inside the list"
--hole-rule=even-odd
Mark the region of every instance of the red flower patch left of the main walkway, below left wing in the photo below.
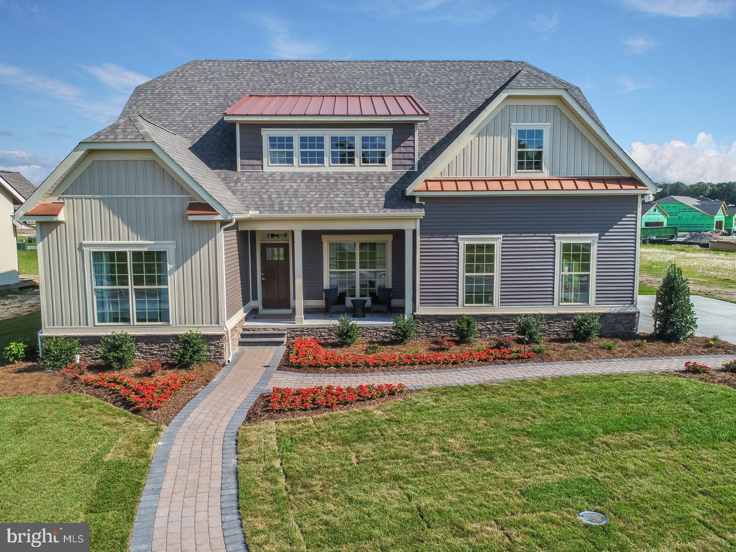
[[[199,378],[190,374],[184,378],[170,375],[168,378],[134,379],[122,374],[84,375],[77,369],[66,369],[72,379],[85,385],[102,387],[119,394],[126,403],[135,409],[160,408],[163,403],[189,381]]]

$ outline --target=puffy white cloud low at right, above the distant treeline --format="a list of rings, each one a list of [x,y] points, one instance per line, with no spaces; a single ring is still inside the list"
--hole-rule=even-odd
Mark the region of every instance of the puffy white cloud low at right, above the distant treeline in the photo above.
[[[700,132],[695,143],[671,140],[664,144],[631,144],[631,159],[654,182],[731,182],[736,180],[736,142],[718,144]]]

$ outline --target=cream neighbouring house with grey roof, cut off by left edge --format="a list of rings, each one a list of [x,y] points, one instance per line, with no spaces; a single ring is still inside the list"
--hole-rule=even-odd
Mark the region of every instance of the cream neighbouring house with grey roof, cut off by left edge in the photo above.
[[[35,186],[21,173],[0,170],[0,286],[18,283],[15,242],[18,227],[26,224],[13,219],[13,214],[34,190]]]

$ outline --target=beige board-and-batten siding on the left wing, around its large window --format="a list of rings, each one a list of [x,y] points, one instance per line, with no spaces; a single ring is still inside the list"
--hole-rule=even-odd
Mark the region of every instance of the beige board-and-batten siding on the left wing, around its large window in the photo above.
[[[85,241],[174,241],[172,326],[222,324],[219,223],[188,221],[185,211],[193,198],[159,163],[94,160],[60,199],[66,202],[66,222],[38,222],[44,328],[94,326]]]

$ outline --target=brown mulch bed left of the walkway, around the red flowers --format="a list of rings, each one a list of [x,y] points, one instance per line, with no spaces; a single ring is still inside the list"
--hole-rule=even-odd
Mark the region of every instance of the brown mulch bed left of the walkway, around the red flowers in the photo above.
[[[116,373],[127,375],[131,378],[151,377],[141,373],[141,366],[143,364],[145,364],[145,361],[135,361],[132,368],[119,370]],[[199,378],[185,384],[161,408],[132,412],[151,422],[168,424],[171,420],[174,420],[174,417],[184,408],[185,404],[194,395],[199,393],[202,387],[212,381],[221,369],[222,366],[214,362],[208,362],[190,370],[164,365],[163,369],[158,370],[153,377],[166,379],[169,375],[184,377],[188,374],[197,374]],[[102,374],[102,372],[115,372],[115,370],[102,366],[88,367],[89,375],[98,375]],[[104,400],[106,403],[130,410],[130,405],[125,403],[118,394],[110,392],[107,389],[87,386],[79,381],[73,381],[63,371],[46,372],[40,364],[31,362],[0,366],[0,397],[61,393],[86,393],[99,400]]]

